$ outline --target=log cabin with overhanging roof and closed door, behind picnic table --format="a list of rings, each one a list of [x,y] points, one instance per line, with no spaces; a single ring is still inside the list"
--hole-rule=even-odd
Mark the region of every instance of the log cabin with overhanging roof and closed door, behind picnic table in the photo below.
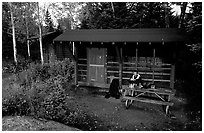
[[[174,28],[68,30],[54,39],[69,46],[56,53],[71,53],[75,84],[103,88],[113,77],[127,85],[137,70],[144,82],[174,89],[176,55],[185,41]]]

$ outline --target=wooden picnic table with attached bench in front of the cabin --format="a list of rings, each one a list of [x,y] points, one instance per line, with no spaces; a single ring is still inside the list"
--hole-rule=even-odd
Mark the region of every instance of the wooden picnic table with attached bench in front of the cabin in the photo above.
[[[126,109],[130,107],[133,101],[144,102],[144,103],[152,103],[159,104],[165,107],[165,113],[168,114],[169,107],[173,106],[171,102],[171,98],[174,96],[175,91],[164,89],[164,88],[141,88],[135,86],[134,88],[130,88],[126,86],[125,93],[123,95],[123,99],[125,100]],[[130,92],[127,94],[127,92]]]

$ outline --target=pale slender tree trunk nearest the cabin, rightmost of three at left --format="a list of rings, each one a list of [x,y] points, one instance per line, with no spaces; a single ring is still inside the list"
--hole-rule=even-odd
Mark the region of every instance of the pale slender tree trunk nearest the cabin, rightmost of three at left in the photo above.
[[[41,57],[41,63],[42,65],[44,64],[44,59],[43,59],[43,49],[42,49],[42,28],[41,28],[41,21],[40,21],[40,6],[38,2],[38,27],[39,27],[39,41],[40,41],[40,57]]]

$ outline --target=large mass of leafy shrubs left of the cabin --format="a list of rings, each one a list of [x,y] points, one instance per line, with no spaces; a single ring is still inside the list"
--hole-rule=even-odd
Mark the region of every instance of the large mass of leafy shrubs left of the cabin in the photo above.
[[[72,74],[73,63],[69,59],[53,64],[30,64],[27,71],[18,74],[18,82],[13,80],[3,86],[3,116],[16,114],[57,119],[64,110],[63,84],[70,82]]]

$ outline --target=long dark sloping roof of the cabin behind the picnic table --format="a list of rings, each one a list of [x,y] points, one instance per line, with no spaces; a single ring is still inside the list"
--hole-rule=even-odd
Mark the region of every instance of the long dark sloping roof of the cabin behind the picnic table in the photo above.
[[[181,42],[184,32],[176,28],[67,30],[54,41],[82,42]]]

